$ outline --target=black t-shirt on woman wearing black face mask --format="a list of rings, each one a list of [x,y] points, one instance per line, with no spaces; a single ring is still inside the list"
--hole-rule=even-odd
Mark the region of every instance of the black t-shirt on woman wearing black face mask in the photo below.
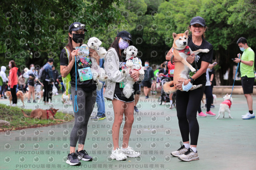
[[[74,48],[73,48],[74,50]],[[71,51],[70,51],[71,55]],[[77,79],[77,87],[82,88],[85,92],[92,92],[96,90],[96,83],[93,81],[93,79],[86,80],[86,81],[80,81],[78,69],[84,68],[84,67],[90,67],[92,61],[84,61],[82,59],[78,59],[76,61],[76,68],[75,68],[75,63],[70,71],[70,76],[71,76],[71,86],[76,87],[76,79]],[[60,53],[60,65],[68,65],[68,56],[66,53],[66,49],[62,49]],[[75,72],[76,69],[76,72]]]

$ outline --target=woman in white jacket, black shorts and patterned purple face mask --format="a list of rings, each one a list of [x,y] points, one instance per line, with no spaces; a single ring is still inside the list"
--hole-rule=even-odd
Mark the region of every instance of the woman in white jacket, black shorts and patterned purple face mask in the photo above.
[[[126,49],[129,44],[132,45],[132,36],[129,32],[121,31],[117,34],[111,47],[108,49],[106,54],[106,59],[104,63],[104,68],[108,74],[108,80],[106,81],[106,90],[104,97],[107,100],[112,101],[114,109],[114,123],[112,126],[112,138],[114,148],[110,156],[111,159],[116,160],[126,160],[128,157],[138,157],[139,152],[135,152],[129,145],[130,133],[132,130],[132,124],[134,121],[134,96],[131,95],[129,99],[124,97],[122,90],[124,87],[125,75],[121,73],[121,70],[126,67],[126,60],[123,55],[124,49]],[[138,71],[134,71],[130,75],[134,81],[139,77],[141,81],[144,76],[140,75]],[[122,124],[123,116],[125,117],[125,124],[123,129],[123,143],[122,148],[119,149],[119,131]]]

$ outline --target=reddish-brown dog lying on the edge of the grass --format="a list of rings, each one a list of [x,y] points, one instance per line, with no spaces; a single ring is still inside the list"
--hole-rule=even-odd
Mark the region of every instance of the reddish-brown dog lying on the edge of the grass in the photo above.
[[[43,109],[36,109],[30,113],[30,116],[26,115],[26,113],[22,111],[24,117],[30,117],[30,118],[37,118],[37,119],[52,119],[54,121],[64,121],[61,119],[55,119],[54,115],[57,113],[59,109],[49,109],[49,110],[43,110]]]

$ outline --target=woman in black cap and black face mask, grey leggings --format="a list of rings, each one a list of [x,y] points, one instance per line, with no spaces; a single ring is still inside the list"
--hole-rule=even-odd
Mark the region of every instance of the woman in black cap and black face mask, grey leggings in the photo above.
[[[70,153],[66,160],[66,163],[70,165],[80,165],[79,160],[92,160],[92,157],[84,150],[84,141],[87,134],[87,124],[96,100],[96,84],[92,79],[81,81],[78,69],[90,67],[92,65],[90,57],[94,57],[98,62],[99,56],[93,49],[90,49],[90,57],[77,56],[78,50],[75,48],[82,45],[86,31],[85,25],[80,22],[71,24],[68,29],[68,45],[62,49],[60,54],[60,73],[62,77],[69,76],[69,74],[71,77],[72,104],[75,112],[75,123],[70,132]],[[74,64],[75,59],[76,65]],[[70,93],[70,89],[66,90]],[[76,150],[77,142],[78,150]]]

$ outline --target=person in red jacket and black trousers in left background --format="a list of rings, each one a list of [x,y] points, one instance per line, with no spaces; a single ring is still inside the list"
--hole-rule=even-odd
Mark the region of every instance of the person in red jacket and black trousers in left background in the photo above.
[[[11,60],[9,62],[9,76],[8,76],[8,86],[11,89],[11,94],[12,94],[12,106],[16,106],[17,104],[17,95],[16,95],[16,88],[18,84],[18,77],[17,77],[17,71],[18,68],[16,67],[15,61]]]

